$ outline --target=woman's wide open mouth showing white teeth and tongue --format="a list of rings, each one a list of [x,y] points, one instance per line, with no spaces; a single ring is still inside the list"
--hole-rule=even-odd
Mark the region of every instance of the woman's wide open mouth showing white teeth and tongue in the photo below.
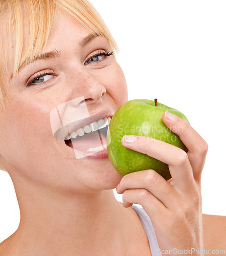
[[[111,117],[91,122],[69,134],[64,142],[76,151],[94,154],[107,148],[107,129]]]

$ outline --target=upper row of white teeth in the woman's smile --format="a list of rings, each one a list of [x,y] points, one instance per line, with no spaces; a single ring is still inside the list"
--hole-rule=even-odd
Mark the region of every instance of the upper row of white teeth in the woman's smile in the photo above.
[[[104,128],[106,125],[109,125],[111,117],[105,117],[100,119],[97,122],[92,122],[88,125],[83,126],[82,128],[72,132],[68,136],[66,136],[65,140],[70,140],[71,138],[76,138],[77,136],[83,136],[85,133],[91,133],[97,131],[99,129]]]

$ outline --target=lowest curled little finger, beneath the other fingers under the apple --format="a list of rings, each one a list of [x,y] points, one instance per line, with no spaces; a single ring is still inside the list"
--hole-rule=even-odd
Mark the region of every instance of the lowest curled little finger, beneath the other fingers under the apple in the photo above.
[[[165,215],[168,209],[146,189],[128,189],[123,193],[123,206],[140,204],[153,221],[161,221],[160,216]],[[162,222],[162,221],[161,221]]]

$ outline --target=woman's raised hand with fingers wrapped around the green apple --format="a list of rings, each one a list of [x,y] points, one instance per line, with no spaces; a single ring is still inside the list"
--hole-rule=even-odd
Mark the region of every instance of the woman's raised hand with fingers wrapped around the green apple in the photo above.
[[[200,180],[208,145],[186,121],[175,117],[165,112],[162,119],[180,137],[188,153],[150,137],[135,136],[137,141],[132,143],[122,139],[123,146],[167,163],[172,178],[166,181],[151,169],[130,173],[120,181],[117,193],[123,194],[124,207],[133,203],[143,206],[161,250],[202,250]]]

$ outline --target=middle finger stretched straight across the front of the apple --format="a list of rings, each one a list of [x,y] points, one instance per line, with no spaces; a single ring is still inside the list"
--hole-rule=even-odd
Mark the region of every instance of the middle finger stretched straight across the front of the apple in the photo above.
[[[126,142],[126,138],[137,138],[134,142]],[[194,183],[191,164],[187,153],[181,148],[143,136],[124,136],[123,146],[131,150],[146,154],[169,165],[170,174],[175,184],[181,188],[189,188]]]

